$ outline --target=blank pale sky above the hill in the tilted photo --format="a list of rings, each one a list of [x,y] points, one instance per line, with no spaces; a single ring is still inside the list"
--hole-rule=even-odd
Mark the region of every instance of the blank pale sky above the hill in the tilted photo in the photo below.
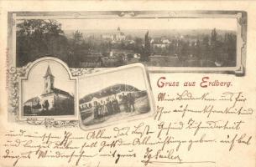
[[[128,84],[139,90],[146,90],[142,68],[127,68],[111,73],[79,78],[79,99],[118,83]]]

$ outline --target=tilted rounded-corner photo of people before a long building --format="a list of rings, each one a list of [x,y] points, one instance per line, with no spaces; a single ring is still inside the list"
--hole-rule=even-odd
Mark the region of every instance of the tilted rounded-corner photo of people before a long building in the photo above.
[[[108,124],[149,113],[152,104],[143,69],[135,66],[81,78],[79,109],[82,124]]]

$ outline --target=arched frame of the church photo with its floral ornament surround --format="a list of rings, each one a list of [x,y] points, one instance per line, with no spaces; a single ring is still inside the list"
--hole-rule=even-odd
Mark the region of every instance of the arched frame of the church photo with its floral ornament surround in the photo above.
[[[15,68],[10,67],[8,68],[8,112],[10,114],[13,114],[15,117],[15,121],[21,124],[34,124],[34,125],[44,125],[47,128],[55,127],[55,128],[68,128],[68,127],[75,127],[78,126],[78,95],[77,95],[77,78],[74,74],[71,74],[70,68],[67,68],[67,65],[65,65],[65,68],[67,72],[70,75],[70,78],[75,80],[76,84],[76,94],[75,94],[75,106],[76,106],[76,115],[74,118],[65,118],[65,119],[59,119],[59,118],[48,118],[47,116],[44,118],[27,118],[27,119],[21,119],[20,118],[20,111],[21,111],[21,82],[24,78],[28,78],[29,71],[32,70],[34,65],[36,63],[39,63],[40,61],[44,60],[52,60],[57,61],[58,63],[64,64],[61,60],[58,58],[39,58],[34,63],[28,63],[26,66],[22,68]],[[74,71],[74,70],[73,70]],[[75,69],[75,71],[77,71]],[[86,72],[89,73],[89,72]],[[58,117],[58,116],[57,116]]]

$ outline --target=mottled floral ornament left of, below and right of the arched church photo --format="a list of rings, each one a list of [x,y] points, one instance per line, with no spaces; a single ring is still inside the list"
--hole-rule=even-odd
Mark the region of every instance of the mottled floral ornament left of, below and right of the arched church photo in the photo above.
[[[45,59],[45,58],[43,58]],[[47,58],[46,58],[47,59]],[[56,58],[57,59],[57,58]],[[26,74],[32,68],[34,63],[28,63],[22,68],[8,68],[8,112],[13,114],[15,121],[18,123],[26,123],[32,125],[44,125],[46,128],[70,128],[79,125],[78,118],[76,120],[55,120],[55,119],[19,119],[19,100],[20,100],[20,80],[25,78]],[[101,71],[101,68],[69,68],[72,77],[78,77],[89,73]],[[78,114],[77,114],[78,115]]]

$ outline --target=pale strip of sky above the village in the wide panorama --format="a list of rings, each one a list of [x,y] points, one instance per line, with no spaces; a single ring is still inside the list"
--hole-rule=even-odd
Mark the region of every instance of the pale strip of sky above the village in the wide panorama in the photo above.
[[[222,29],[237,30],[236,18],[107,18],[58,19],[63,30],[74,29]]]

